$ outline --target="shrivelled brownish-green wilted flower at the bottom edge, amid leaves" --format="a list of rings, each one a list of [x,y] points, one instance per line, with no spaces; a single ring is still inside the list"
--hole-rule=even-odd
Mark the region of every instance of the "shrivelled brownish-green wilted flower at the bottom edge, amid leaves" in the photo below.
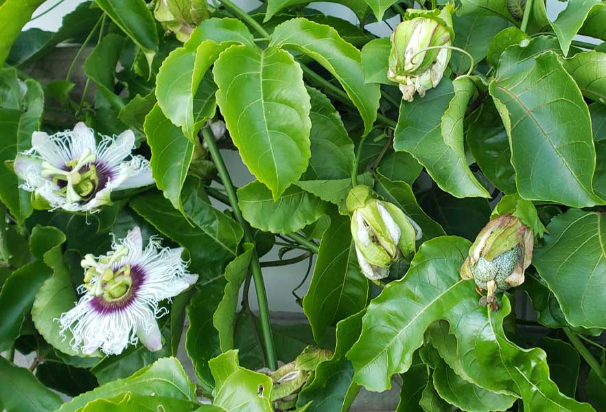
[[[305,383],[314,378],[314,371],[320,363],[332,356],[329,350],[307,346],[296,359],[279,367],[276,371],[265,371],[272,378],[272,404],[277,411],[288,411],[296,405],[299,391]]]

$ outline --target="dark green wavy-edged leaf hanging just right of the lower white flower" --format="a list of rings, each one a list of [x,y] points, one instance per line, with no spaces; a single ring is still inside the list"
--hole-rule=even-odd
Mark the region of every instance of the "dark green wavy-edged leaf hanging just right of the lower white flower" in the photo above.
[[[189,328],[185,349],[194,364],[200,384],[207,390],[215,386],[209,361],[221,353],[219,332],[213,326],[213,314],[222,300],[225,285],[226,279],[221,276],[213,282],[199,286],[198,293],[187,306]]]

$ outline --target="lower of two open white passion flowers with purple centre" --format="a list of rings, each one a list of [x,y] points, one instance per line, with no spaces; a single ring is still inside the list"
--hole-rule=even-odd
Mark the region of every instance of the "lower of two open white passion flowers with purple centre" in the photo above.
[[[60,334],[69,330],[71,347],[82,354],[100,349],[120,354],[141,340],[151,351],[162,348],[157,318],[167,313],[159,302],[182,293],[198,275],[187,272],[183,248],[161,248],[156,239],[143,249],[141,230],[135,227],[107,255],[82,260],[83,294],[60,319]]]

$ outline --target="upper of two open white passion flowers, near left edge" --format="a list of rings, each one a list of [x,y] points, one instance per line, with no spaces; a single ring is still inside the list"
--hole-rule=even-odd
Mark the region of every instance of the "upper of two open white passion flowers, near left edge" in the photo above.
[[[131,130],[104,136],[97,145],[93,130],[80,122],[51,136],[34,132],[32,148],[17,155],[14,171],[25,181],[20,187],[51,209],[95,211],[111,203],[114,190],[154,183],[149,161],[131,155],[134,146]]]

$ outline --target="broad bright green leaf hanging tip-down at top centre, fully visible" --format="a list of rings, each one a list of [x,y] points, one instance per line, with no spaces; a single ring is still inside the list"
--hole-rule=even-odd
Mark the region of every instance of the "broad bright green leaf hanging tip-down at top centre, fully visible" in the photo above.
[[[215,62],[217,101],[244,164],[274,201],[307,168],[310,100],[290,54],[231,46]]]

